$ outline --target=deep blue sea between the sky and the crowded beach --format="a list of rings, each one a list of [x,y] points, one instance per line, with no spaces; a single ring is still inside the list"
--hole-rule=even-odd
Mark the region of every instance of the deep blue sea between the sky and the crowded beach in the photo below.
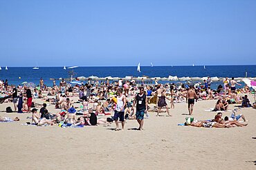
[[[137,72],[136,66],[127,67],[76,67],[74,69],[66,69],[64,67],[39,67],[33,70],[33,67],[1,67],[0,79],[8,79],[9,85],[21,85],[23,82],[39,84],[40,78],[44,79],[46,85],[52,86],[52,78],[69,78],[73,74],[77,76],[98,76],[98,77],[120,77],[125,76],[148,76],[148,77],[205,77],[217,76],[223,77],[256,77],[256,65],[203,65],[201,66],[140,66],[140,72]],[[85,81],[86,82],[86,81]],[[172,81],[160,81],[160,83],[173,83]],[[174,82],[182,83],[182,82]],[[242,83],[242,82],[241,82]],[[221,81],[212,83],[212,88],[222,84]],[[244,85],[244,84],[243,84]]]

